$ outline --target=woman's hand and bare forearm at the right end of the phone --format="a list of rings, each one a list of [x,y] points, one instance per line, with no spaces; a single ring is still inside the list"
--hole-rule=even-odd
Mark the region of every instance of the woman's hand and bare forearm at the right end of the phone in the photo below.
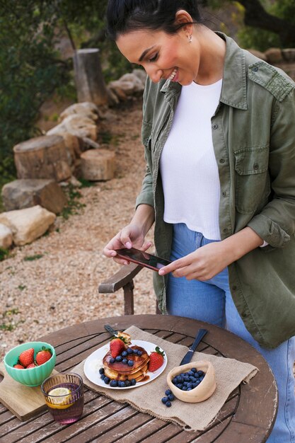
[[[187,280],[210,280],[262,243],[262,238],[247,226],[222,241],[208,243],[170,265],[161,267],[158,273],[165,275],[173,272],[174,277],[185,277]]]

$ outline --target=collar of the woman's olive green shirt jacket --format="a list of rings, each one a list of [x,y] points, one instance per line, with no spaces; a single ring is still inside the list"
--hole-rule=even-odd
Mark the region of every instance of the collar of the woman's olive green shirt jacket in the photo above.
[[[216,32],[216,34],[226,41],[226,58],[220,101],[233,108],[245,110],[248,108],[245,53],[232,38],[224,33]],[[163,84],[161,92],[168,93],[170,97],[178,93],[180,89],[180,84],[167,80]]]

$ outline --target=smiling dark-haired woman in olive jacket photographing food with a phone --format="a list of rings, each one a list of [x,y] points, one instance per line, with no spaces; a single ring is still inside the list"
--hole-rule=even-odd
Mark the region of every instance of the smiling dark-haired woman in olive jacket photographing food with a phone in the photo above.
[[[279,389],[268,442],[294,443],[294,82],[209,30],[193,0],[110,0],[107,18],[149,78],[146,175],[132,221],[104,253],[146,251],[155,222],[156,252],[173,260],[154,273],[161,310],[255,346]]]

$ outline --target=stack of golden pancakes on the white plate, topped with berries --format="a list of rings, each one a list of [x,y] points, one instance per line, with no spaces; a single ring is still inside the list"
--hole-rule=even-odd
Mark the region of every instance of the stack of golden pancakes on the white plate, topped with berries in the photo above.
[[[137,349],[142,352],[139,356],[137,354],[128,354],[127,359],[133,360],[133,366],[122,362],[110,363],[110,351],[103,357],[103,367],[105,369],[105,375],[110,379],[115,380],[132,380],[142,381],[148,372],[149,355],[143,347],[131,346],[132,349]]]

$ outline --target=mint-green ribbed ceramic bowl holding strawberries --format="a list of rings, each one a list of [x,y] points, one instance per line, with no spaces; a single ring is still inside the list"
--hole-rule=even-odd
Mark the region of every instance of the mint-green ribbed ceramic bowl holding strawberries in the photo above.
[[[18,362],[18,357],[21,352],[33,347],[35,350],[35,359],[37,352],[42,350],[42,346],[49,348],[52,352],[52,357],[48,360],[48,362],[30,369],[17,369],[13,367],[13,365]],[[7,352],[6,356],[4,357],[4,365],[6,371],[14,380],[21,384],[25,384],[25,386],[39,386],[52,373],[56,359],[57,355],[55,354],[54,347],[49,345],[49,343],[29,342],[13,347],[9,352]]]

